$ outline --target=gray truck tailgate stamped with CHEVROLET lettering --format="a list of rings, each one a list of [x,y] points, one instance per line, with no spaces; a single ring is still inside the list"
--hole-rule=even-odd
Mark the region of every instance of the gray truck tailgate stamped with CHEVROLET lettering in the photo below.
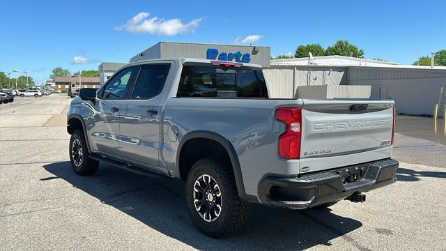
[[[301,170],[331,169],[391,155],[392,100],[303,100]]]

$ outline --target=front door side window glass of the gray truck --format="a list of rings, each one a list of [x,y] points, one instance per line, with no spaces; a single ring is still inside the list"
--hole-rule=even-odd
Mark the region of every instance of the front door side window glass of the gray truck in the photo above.
[[[126,68],[107,82],[101,93],[104,99],[119,99],[125,96],[128,86],[137,75],[137,67]]]

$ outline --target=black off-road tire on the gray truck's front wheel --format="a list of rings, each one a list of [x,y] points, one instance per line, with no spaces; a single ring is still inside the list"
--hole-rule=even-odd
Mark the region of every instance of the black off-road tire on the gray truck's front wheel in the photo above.
[[[75,157],[76,154],[73,153],[73,144],[80,146],[80,150],[77,147],[75,147],[75,149],[78,150],[76,151],[76,153],[82,153],[80,163]],[[91,158],[89,158],[89,150],[87,149],[84,132],[82,130],[77,129],[74,132],[72,132],[68,153],[70,154],[70,164],[72,170],[76,174],[87,176],[94,174],[96,170],[98,170],[99,162],[97,160],[92,160]]]

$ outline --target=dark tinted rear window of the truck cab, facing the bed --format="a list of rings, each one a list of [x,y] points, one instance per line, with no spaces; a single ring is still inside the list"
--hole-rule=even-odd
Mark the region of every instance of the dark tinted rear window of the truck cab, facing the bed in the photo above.
[[[183,66],[177,97],[268,98],[261,70]]]

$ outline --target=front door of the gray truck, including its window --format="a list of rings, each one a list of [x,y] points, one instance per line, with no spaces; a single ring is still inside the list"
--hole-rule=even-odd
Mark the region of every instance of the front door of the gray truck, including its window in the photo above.
[[[125,68],[100,89],[95,102],[94,123],[89,126],[89,142],[93,151],[121,156],[119,119],[123,98],[136,79],[139,67]]]

